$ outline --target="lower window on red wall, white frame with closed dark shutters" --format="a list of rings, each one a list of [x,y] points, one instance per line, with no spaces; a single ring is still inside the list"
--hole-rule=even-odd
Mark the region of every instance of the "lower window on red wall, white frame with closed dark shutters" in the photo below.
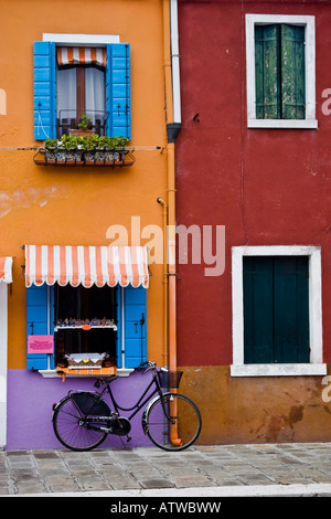
[[[232,375],[324,374],[319,247],[233,247]]]

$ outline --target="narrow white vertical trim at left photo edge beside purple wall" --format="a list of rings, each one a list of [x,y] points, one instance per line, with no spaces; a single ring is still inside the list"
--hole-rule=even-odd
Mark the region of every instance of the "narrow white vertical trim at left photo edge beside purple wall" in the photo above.
[[[0,283],[0,448],[7,444],[8,285]]]

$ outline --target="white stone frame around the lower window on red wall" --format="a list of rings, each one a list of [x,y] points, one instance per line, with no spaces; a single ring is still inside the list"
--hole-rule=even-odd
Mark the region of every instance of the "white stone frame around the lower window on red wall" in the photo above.
[[[309,363],[244,363],[244,256],[308,256],[309,258]],[[275,245],[232,248],[233,363],[232,377],[323,375],[321,248]]]

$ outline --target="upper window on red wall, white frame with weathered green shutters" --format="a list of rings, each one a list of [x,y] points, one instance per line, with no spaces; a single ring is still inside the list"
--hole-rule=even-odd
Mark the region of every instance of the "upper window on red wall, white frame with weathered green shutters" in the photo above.
[[[316,128],[314,17],[246,15],[248,127]]]

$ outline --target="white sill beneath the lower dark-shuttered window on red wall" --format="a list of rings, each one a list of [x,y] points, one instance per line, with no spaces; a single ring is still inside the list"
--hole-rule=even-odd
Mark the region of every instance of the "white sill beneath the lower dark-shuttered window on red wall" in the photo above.
[[[232,364],[231,377],[324,375],[327,364]]]

